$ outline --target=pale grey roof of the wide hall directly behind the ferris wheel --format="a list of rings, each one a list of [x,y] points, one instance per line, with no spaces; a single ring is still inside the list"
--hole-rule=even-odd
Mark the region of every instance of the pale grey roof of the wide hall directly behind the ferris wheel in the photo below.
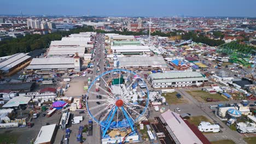
[[[120,67],[167,67],[162,56],[157,57],[118,57]]]

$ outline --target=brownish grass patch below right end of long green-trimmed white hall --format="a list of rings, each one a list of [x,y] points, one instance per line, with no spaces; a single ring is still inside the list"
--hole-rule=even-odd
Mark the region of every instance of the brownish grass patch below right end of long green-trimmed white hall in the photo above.
[[[228,99],[222,97],[222,95],[216,93],[216,94],[210,94],[206,91],[187,91],[188,94],[190,94],[192,97],[194,97],[199,102],[207,102],[207,98],[217,99],[220,101],[227,101]]]

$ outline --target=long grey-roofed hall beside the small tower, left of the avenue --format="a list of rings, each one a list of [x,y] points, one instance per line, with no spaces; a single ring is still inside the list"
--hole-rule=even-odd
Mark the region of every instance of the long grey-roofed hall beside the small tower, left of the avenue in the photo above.
[[[73,69],[73,57],[33,58],[27,67],[27,70],[34,70],[37,74],[65,73]]]

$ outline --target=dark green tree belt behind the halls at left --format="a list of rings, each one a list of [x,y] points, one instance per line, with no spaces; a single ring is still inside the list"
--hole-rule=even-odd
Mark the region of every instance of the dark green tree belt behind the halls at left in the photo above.
[[[92,32],[90,26],[71,29],[71,31],[55,32],[45,35],[27,34],[23,38],[0,41],[0,57],[13,55],[18,52],[30,52],[36,49],[48,48],[52,40],[61,40],[72,33]]]

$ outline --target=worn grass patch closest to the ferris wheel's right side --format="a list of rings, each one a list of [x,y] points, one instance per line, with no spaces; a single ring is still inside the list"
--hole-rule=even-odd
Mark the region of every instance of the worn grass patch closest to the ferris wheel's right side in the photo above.
[[[165,97],[166,103],[170,104],[187,104],[188,100],[181,97],[178,99],[176,97],[177,92],[174,93],[162,93],[162,96]]]

